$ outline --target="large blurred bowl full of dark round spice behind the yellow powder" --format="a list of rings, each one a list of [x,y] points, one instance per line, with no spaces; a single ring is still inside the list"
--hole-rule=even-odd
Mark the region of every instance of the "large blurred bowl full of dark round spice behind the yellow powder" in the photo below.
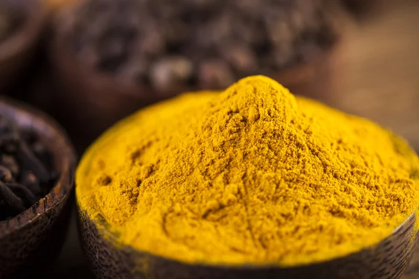
[[[52,24],[60,121],[77,133],[83,126],[91,142],[122,117],[177,93],[223,89],[248,75],[276,77],[336,43],[338,2],[80,1]]]

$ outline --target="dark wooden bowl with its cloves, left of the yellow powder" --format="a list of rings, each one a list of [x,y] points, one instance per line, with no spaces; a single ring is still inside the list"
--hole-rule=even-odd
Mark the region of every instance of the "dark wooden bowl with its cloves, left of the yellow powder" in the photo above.
[[[0,278],[29,278],[64,243],[75,152],[48,116],[0,98]]]

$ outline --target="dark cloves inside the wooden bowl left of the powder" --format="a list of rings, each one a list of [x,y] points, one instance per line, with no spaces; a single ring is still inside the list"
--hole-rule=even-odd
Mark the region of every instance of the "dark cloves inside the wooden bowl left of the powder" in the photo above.
[[[36,132],[0,114],[0,222],[45,197],[56,178],[52,154]]]

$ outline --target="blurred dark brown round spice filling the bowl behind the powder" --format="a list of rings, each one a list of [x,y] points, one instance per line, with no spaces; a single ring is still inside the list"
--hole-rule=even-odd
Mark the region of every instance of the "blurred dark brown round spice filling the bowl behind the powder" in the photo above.
[[[219,89],[330,47],[331,2],[87,0],[57,27],[80,61],[119,80]]]

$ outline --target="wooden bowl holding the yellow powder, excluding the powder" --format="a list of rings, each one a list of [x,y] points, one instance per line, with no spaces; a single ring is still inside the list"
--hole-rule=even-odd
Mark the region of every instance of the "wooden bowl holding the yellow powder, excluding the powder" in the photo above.
[[[397,279],[406,271],[413,254],[416,216],[413,213],[386,239],[346,257],[305,266],[216,266],[185,264],[128,246],[115,246],[115,236],[105,220],[92,220],[80,211],[84,252],[97,278],[153,279]]]

